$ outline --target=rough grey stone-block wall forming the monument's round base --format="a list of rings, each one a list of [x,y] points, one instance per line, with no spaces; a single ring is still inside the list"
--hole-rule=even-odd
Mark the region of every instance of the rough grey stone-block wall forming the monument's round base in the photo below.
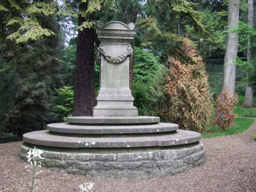
[[[26,159],[34,145],[23,142],[20,157]],[[90,150],[51,148],[43,150],[42,165],[56,171],[103,177],[159,177],[181,173],[205,161],[205,147],[196,142],[186,146],[147,149]]]

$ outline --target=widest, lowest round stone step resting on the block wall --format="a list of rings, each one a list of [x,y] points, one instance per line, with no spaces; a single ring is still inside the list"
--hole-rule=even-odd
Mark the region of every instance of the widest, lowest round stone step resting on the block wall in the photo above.
[[[67,137],[50,134],[49,130],[33,131],[23,135],[23,141],[35,145],[67,148],[123,148],[174,146],[199,141],[201,134],[177,130],[174,134],[154,134],[138,137]]]

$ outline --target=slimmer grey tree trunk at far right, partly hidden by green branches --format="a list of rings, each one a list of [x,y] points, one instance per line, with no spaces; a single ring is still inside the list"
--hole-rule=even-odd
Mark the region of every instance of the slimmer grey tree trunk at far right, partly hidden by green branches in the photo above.
[[[253,17],[254,17],[253,0],[248,0],[248,25],[251,26],[251,27],[253,27]],[[250,61],[250,58],[251,58],[250,50],[248,49],[247,61]],[[247,84],[246,84],[246,89],[245,89],[245,100],[244,100],[244,103],[243,103],[242,107],[244,107],[244,108],[254,107],[254,104],[253,104],[253,87],[248,86]]]

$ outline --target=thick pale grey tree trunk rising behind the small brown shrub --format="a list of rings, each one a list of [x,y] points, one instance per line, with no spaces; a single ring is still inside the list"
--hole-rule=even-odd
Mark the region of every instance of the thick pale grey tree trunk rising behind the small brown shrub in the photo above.
[[[239,20],[239,0],[229,0],[228,5],[228,26],[237,26],[236,23]],[[238,39],[235,37],[236,33],[228,33],[227,34],[227,42],[225,49],[225,57],[224,57],[224,68],[222,75],[222,83],[221,83],[221,91],[224,90],[230,91],[230,95],[234,96],[234,88],[236,81],[236,65],[229,64],[233,62],[235,59],[233,57],[237,56],[238,50]]]

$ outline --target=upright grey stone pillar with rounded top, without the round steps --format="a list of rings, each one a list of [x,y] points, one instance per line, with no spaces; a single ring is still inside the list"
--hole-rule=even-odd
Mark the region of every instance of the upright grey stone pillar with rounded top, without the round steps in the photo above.
[[[94,117],[138,116],[129,89],[129,60],[133,55],[130,42],[135,32],[120,22],[110,22],[96,29],[101,42],[97,53],[101,73]]]

